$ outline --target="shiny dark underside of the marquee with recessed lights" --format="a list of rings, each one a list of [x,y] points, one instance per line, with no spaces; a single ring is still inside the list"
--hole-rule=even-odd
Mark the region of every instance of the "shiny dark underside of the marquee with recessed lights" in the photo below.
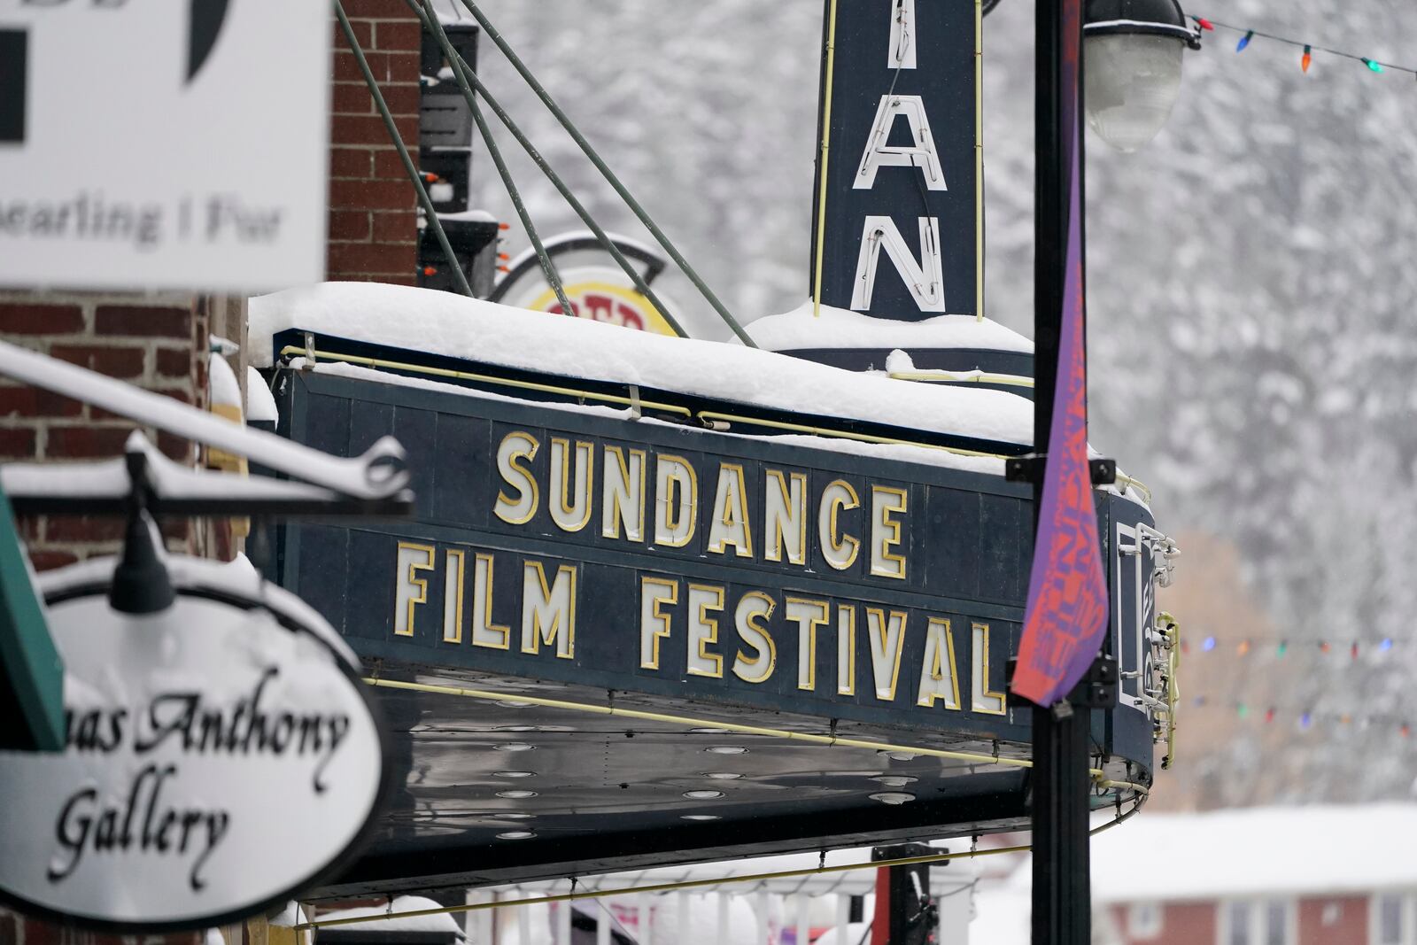
[[[589,687],[388,664],[371,664],[370,672],[388,680],[506,693],[506,698],[377,690],[391,730],[393,764],[405,775],[395,778],[398,788],[366,854],[313,898],[971,836],[1029,823],[1027,769],[988,762],[993,742],[835,725],[842,738],[983,759],[888,757],[870,748],[716,731],[713,724],[833,732],[828,720],[808,715],[614,693],[616,708],[707,724],[650,721],[523,701],[530,696],[609,704],[605,690]],[[530,748],[519,748],[524,745]],[[1020,758],[1027,748],[1005,742],[998,751]],[[534,796],[502,796],[529,791]],[[700,791],[723,796],[684,796]],[[900,793],[911,799],[871,798]]]

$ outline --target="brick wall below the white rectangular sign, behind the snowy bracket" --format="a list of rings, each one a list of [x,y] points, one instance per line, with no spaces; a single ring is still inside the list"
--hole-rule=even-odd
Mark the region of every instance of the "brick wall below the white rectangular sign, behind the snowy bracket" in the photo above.
[[[190,295],[0,293],[0,339],[204,408],[210,300]],[[0,462],[72,462],[119,456],[130,421],[58,394],[0,378]],[[171,459],[197,460],[193,443],[147,432]],[[112,554],[119,519],[20,521],[40,570]],[[203,531],[164,523],[174,550],[203,553]]]

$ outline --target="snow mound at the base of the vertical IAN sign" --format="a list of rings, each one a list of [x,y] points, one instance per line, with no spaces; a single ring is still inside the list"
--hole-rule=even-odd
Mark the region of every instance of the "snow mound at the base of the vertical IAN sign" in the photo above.
[[[752,340],[769,351],[820,347],[985,349],[1033,353],[1033,341],[998,322],[972,315],[938,315],[922,322],[891,322],[860,312],[822,306],[811,299],[791,312],[769,315],[747,326]]]

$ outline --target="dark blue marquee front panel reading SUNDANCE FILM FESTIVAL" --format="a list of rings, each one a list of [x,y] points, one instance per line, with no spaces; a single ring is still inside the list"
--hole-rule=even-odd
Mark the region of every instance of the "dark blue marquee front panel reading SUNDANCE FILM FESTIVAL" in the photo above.
[[[296,439],[357,451],[393,424],[428,470],[415,523],[288,533],[283,582],[367,657],[1026,732],[1003,697],[1019,486],[344,378],[289,390]]]

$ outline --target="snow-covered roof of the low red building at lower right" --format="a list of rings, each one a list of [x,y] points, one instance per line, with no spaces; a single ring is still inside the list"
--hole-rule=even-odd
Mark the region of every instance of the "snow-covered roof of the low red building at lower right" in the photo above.
[[[1417,888],[1417,805],[1145,813],[1093,839],[1095,902]],[[1030,864],[1009,878],[1027,890]]]

